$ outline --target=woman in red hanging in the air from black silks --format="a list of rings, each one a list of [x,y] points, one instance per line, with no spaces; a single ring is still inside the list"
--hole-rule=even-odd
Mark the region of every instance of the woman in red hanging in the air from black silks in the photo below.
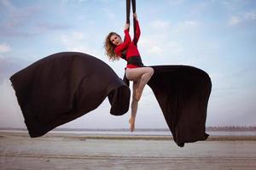
[[[143,66],[143,62],[136,45],[141,33],[137,14],[134,13],[133,17],[136,19],[136,36],[132,41],[129,34],[129,24],[125,24],[125,41],[123,41],[119,34],[115,32],[110,32],[105,41],[106,54],[109,59],[115,60],[122,58],[127,61],[125,77],[129,81],[133,82],[131,119],[129,120],[131,132],[133,132],[135,128],[137,105],[143,94],[143,88],[154,74],[153,68]]]

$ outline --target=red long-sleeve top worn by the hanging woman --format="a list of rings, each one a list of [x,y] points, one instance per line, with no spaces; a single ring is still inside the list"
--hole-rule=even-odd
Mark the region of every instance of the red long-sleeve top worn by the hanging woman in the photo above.
[[[126,54],[125,54],[126,59],[125,60],[128,60],[130,57],[134,57],[134,56],[140,57],[137,46],[135,45],[135,41],[136,40],[138,41],[140,35],[141,35],[140,26],[139,26],[138,20],[136,20],[136,37],[134,37],[131,42],[129,29],[126,29],[125,30],[125,41],[123,43],[119,44],[119,46],[117,46],[114,49],[114,53],[119,55],[120,57],[122,57],[123,52],[126,50]],[[137,68],[138,66],[127,64],[126,67],[127,68]]]

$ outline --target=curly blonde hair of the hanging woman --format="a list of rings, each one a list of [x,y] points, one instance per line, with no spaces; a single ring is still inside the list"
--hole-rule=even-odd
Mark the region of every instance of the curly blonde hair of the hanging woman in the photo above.
[[[114,48],[116,48],[116,46],[110,41],[110,37],[113,35],[120,37],[116,32],[110,32],[108,34],[104,42],[105,54],[108,55],[108,58],[111,60],[118,60],[119,56],[114,53]]]

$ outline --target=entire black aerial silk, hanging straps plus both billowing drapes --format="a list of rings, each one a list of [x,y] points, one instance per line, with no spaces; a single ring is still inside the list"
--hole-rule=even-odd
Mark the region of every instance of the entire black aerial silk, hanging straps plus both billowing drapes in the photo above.
[[[136,1],[127,0],[128,23],[131,3],[136,12]],[[212,88],[207,73],[188,65],[150,67],[154,75],[148,86],[177,145],[206,140],[207,103]],[[111,114],[121,116],[129,110],[129,81],[122,81],[106,63],[90,54],[49,55],[16,72],[10,81],[32,138],[95,110],[107,97]]]

